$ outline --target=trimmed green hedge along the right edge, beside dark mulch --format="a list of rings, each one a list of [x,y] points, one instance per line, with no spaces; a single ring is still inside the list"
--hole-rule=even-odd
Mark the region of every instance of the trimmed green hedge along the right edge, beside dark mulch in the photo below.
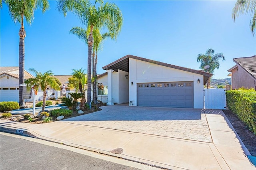
[[[226,99],[228,108],[256,134],[256,91],[229,90]]]

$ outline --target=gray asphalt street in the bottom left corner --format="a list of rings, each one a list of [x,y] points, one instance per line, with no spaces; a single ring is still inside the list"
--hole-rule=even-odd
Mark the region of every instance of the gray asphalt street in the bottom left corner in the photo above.
[[[37,142],[0,135],[1,170],[135,170]]]

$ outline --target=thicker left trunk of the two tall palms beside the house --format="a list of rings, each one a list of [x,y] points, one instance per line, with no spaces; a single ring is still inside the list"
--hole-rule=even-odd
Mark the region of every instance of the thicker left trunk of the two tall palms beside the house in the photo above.
[[[93,26],[91,26],[91,31],[90,31],[90,35],[88,38],[88,65],[87,65],[87,103],[90,106],[91,109],[91,95],[92,95],[92,76],[91,76],[91,72],[92,72],[92,45],[93,45],[93,37],[92,37],[92,30],[93,30]]]

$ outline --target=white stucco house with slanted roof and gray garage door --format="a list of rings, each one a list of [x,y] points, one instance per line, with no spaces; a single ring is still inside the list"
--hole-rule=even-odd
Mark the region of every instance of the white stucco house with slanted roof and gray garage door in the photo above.
[[[97,98],[107,105],[204,108],[204,85],[212,76],[134,55],[126,55],[103,67],[98,76]]]

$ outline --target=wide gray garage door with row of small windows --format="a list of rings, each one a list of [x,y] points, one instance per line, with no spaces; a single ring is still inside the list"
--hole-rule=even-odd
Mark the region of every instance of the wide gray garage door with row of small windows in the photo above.
[[[138,83],[137,105],[193,108],[193,82]]]

